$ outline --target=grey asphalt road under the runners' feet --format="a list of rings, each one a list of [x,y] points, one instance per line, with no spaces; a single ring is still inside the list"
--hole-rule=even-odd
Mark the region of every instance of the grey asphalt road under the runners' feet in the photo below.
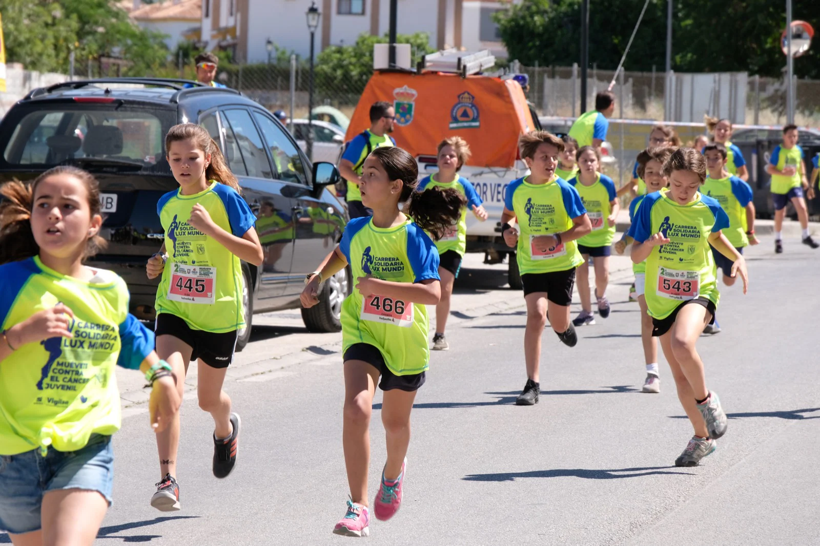
[[[370,544],[820,544],[820,252],[787,239],[776,256],[764,237],[748,256],[749,294],[723,290],[723,331],[699,342],[729,430],[701,466],[682,469],[674,460],[692,430],[663,359],[661,393],[640,393],[628,272],[613,275],[611,316],[580,329],[576,348],[544,332],[541,401],[516,407],[526,380],[522,295],[501,286],[505,266],[468,269],[451,349],[433,353],[412,415],[403,507],[391,521],[371,520]],[[212,421],[188,394],[181,512],[148,505],[159,478],[153,434],[139,393],[125,395],[114,505],[96,544],[353,540],[331,535],[348,495],[338,339],[311,343],[297,325],[277,336],[276,316],[268,319],[273,335],[255,337],[253,354],[276,353],[288,338],[312,349],[232,371],[225,389],[243,430],[226,480],[211,474]],[[379,410],[377,394],[371,498],[385,460]]]

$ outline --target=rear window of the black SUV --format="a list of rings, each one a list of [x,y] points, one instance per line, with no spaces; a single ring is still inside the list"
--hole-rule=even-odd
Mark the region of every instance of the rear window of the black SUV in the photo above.
[[[55,166],[67,160],[95,157],[137,162],[141,170],[170,174],[163,137],[173,125],[172,111],[147,108],[88,105],[38,105],[17,111],[6,123],[7,137],[0,141],[7,166]]]

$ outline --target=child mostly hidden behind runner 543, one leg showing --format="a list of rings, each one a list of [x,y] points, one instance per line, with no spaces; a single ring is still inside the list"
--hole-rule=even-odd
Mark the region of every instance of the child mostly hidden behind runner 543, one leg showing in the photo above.
[[[663,175],[663,165],[672,155],[676,148],[646,148],[638,154],[638,175],[646,181],[647,193],[655,193],[669,184],[667,177]],[[640,203],[645,195],[639,195],[629,203],[629,219],[635,224],[635,215],[638,212]],[[626,245],[631,244],[632,239],[628,234],[615,243],[615,252],[623,254]],[[661,392],[660,371],[658,371],[658,341],[652,336],[652,316],[646,307],[645,296],[645,272],[646,262],[632,264],[632,272],[635,273],[635,293],[640,306],[640,341],[644,346],[644,360],[646,364],[646,379],[644,386],[640,389],[644,393]]]

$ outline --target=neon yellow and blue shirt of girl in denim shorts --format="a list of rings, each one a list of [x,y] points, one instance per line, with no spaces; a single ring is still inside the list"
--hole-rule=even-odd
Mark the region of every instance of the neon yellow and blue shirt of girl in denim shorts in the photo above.
[[[63,303],[73,337],[16,348],[0,362],[0,455],[52,446],[76,451],[92,434],[120,429],[114,366],[138,369],[154,336],[128,314],[128,289],[112,271],[89,281],[43,266],[39,257],[0,266],[2,329]]]

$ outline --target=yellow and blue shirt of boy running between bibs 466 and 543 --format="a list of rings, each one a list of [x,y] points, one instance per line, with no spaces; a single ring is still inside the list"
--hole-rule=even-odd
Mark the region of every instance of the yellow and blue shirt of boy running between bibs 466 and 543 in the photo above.
[[[566,180],[553,176],[546,184],[530,184],[528,177],[513,180],[504,195],[504,207],[518,221],[518,269],[525,273],[567,271],[584,262],[577,241],[541,252],[535,237],[572,229],[572,219],[586,213],[581,196]]]

